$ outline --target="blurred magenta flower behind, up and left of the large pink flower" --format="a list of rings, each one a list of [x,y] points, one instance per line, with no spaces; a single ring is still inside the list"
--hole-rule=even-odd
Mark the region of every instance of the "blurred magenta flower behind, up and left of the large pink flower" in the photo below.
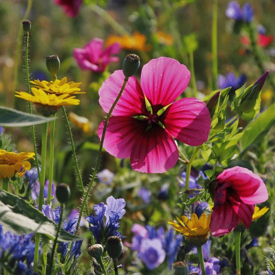
[[[117,62],[118,57],[111,56],[120,50],[119,43],[115,42],[103,49],[104,41],[93,38],[83,48],[74,48],[73,57],[81,69],[93,72],[103,72],[110,62]]]

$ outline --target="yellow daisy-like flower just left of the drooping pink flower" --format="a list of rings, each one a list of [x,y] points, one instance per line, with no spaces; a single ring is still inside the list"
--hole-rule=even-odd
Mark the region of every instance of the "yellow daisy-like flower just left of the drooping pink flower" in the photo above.
[[[172,225],[173,229],[183,234],[194,245],[202,245],[205,243],[209,236],[209,224],[211,215],[201,214],[198,218],[195,213],[191,214],[191,218],[181,216],[181,220],[176,217],[176,223],[174,221],[168,221]]]

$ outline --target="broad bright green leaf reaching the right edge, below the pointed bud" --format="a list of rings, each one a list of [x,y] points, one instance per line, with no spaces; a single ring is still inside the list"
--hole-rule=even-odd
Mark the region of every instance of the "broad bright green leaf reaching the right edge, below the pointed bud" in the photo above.
[[[275,123],[275,103],[269,106],[257,118],[251,121],[243,130],[244,134],[240,139],[242,150],[245,150],[252,143],[255,144],[260,137]]]

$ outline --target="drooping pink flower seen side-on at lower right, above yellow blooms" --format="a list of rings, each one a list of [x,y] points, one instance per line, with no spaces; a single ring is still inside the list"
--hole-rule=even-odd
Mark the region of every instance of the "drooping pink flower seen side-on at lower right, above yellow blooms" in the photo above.
[[[235,166],[220,173],[217,181],[210,222],[212,235],[230,233],[240,220],[248,228],[254,204],[268,198],[262,179],[246,168]]]

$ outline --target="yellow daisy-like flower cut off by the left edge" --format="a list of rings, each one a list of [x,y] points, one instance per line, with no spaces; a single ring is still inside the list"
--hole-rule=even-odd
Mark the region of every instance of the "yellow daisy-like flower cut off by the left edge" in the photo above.
[[[0,149],[0,179],[11,177],[17,172],[21,177],[27,170],[30,169],[28,159],[34,159],[34,153],[14,153]]]

